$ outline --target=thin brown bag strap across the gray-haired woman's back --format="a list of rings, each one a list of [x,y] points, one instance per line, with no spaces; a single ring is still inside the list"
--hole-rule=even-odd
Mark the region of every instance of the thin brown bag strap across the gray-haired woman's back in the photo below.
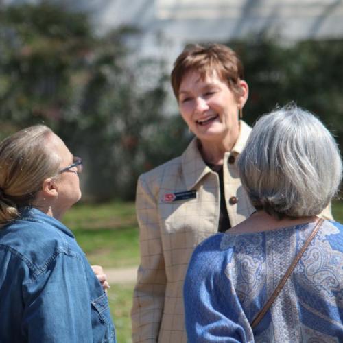
[[[303,245],[303,248],[301,248],[301,250],[298,252],[298,255],[296,255],[296,257],[293,260],[292,264],[289,265],[289,268],[287,269],[287,272],[285,273],[285,275],[283,276],[283,278],[279,282],[279,285],[277,285],[277,287],[274,290],[273,294],[270,296],[270,298],[268,299],[267,303],[265,303],[265,305],[263,306],[263,309],[261,309],[261,311],[259,311],[257,316],[255,316],[255,319],[252,320],[252,322],[250,324],[252,329],[254,329],[257,326],[257,324],[259,324],[259,322],[261,322],[262,318],[265,316],[265,314],[267,313],[267,311],[270,308],[270,306],[272,306],[272,303],[274,303],[274,300],[276,299],[276,297],[281,292],[281,289],[283,289],[283,286],[285,285],[287,279],[289,278],[289,275],[292,274],[294,268],[296,268],[296,265],[298,264],[298,261],[303,256],[303,253],[305,252],[305,250],[307,249],[307,247],[311,243],[311,240],[314,239],[314,236],[316,236],[316,233],[318,233],[318,230],[320,229],[320,226],[322,226],[323,222],[324,222],[324,220],[322,218],[320,220],[318,220],[318,223],[314,227],[314,230],[312,231],[311,235],[309,235],[309,237],[306,239],[306,241],[305,241],[305,243]]]

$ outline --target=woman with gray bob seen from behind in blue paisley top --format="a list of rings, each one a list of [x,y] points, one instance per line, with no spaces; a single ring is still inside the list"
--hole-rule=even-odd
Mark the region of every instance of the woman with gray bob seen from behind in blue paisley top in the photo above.
[[[239,171],[257,212],[193,252],[189,342],[342,342],[343,226],[318,217],[342,179],[333,137],[281,108],[257,121]]]

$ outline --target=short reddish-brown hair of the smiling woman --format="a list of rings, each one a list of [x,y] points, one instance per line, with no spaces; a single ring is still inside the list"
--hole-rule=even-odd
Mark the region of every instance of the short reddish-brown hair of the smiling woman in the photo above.
[[[223,81],[228,82],[235,97],[241,96],[242,90],[238,82],[244,77],[243,64],[235,51],[226,45],[187,45],[185,47],[176,58],[171,71],[171,86],[176,99],[178,99],[182,78],[191,70],[198,71],[202,78],[211,71],[216,71]]]

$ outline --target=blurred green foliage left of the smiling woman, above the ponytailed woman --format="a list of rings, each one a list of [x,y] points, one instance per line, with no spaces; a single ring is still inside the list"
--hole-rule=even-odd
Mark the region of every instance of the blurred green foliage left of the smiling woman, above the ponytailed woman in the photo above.
[[[185,128],[163,116],[163,61],[125,44],[139,32],[93,32],[86,14],[47,1],[0,10],[0,134],[46,123],[84,158],[86,198],[132,199]]]

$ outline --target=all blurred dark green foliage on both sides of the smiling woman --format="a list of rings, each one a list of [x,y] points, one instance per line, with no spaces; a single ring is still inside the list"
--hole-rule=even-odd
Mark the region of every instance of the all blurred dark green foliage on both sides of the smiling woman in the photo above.
[[[143,60],[126,44],[140,32],[94,32],[86,14],[57,2],[2,5],[0,138],[46,123],[84,158],[84,198],[133,199],[139,174],[178,156],[190,136],[177,113],[163,115],[163,60]],[[343,147],[343,40],[281,43],[268,35],[228,43],[250,87],[244,119],[294,101]]]

